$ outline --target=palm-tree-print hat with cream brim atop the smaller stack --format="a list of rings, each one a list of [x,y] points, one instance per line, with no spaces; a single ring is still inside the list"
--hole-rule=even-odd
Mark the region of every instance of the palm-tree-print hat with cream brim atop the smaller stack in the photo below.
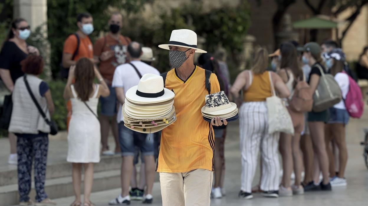
[[[220,116],[232,114],[237,110],[236,104],[230,102],[224,91],[208,94],[205,97],[206,105],[201,111],[211,116]]]

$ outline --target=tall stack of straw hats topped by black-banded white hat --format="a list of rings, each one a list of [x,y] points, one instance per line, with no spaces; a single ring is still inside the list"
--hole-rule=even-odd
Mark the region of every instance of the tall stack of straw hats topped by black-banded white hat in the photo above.
[[[174,92],[164,88],[163,78],[145,74],[125,94],[124,126],[141,133],[158,132],[176,121]]]

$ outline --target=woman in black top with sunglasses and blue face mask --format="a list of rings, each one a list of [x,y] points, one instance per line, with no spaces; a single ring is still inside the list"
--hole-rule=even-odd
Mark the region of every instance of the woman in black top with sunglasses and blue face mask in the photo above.
[[[10,91],[13,91],[15,80],[24,74],[20,62],[30,53],[39,55],[38,49],[28,46],[25,42],[30,34],[29,28],[24,19],[15,19],[1,48],[0,77]],[[9,142],[10,156],[8,163],[17,164],[17,137],[13,133],[9,133]]]

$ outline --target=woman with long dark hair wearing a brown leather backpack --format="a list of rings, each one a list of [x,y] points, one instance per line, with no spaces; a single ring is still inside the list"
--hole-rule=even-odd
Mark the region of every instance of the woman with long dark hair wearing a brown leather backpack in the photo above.
[[[293,111],[288,106],[288,100],[293,97],[294,88],[298,80],[303,80],[303,71],[298,63],[297,50],[292,43],[286,42],[280,46],[281,69],[278,74],[283,79],[290,91],[289,98],[285,102],[287,109],[293,121],[294,136],[280,133],[280,153],[283,163],[283,177],[280,185],[280,196],[300,195],[304,193],[301,183],[302,157],[300,150],[300,135],[304,128],[304,114],[302,112]],[[295,183],[291,186],[291,172],[295,173]]]

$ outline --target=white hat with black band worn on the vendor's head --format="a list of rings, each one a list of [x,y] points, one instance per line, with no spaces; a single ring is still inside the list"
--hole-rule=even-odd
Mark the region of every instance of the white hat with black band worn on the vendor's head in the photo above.
[[[161,44],[159,48],[169,50],[169,46],[180,46],[195,49],[196,53],[207,53],[205,50],[197,48],[197,34],[190,29],[177,29],[171,32],[168,44]]]

